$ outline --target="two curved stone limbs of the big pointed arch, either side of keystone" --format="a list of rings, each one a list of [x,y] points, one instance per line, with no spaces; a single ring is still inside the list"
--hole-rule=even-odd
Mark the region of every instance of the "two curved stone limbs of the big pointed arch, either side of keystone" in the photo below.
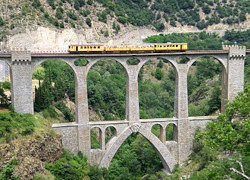
[[[167,147],[152,133],[148,133],[148,129],[140,128],[138,133],[140,133],[144,138],[146,138],[152,146],[155,148],[157,154],[159,155],[164,168],[171,172],[176,165],[174,157],[171,155]],[[120,135],[118,135],[116,141],[106,150],[99,167],[108,168],[113,157],[115,156],[118,149],[121,147],[123,142],[133,133],[130,127],[127,127]]]

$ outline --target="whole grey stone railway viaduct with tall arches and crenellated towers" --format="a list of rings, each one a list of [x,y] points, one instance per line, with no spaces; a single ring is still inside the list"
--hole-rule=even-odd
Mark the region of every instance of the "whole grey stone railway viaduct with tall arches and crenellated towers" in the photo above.
[[[62,136],[63,145],[74,153],[83,152],[92,163],[108,167],[121,144],[133,133],[143,135],[156,149],[164,168],[171,172],[177,163],[183,162],[191,153],[192,139],[197,127],[204,128],[215,116],[188,117],[187,73],[190,66],[199,58],[210,56],[222,65],[222,111],[225,103],[233,100],[243,90],[244,61],[249,50],[237,45],[224,46],[223,50],[186,51],[175,53],[150,54],[69,54],[56,52],[29,52],[15,50],[0,54],[0,60],[9,64],[11,70],[12,104],[19,113],[34,113],[32,95],[32,73],[42,62],[59,59],[66,62],[75,73],[76,80],[76,122],[54,124],[53,128]],[[179,64],[179,57],[187,57],[186,64]],[[86,58],[86,66],[75,66],[74,61]],[[139,59],[137,65],[128,65],[131,57]],[[140,119],[138,98],[138,73],[149,60],[167,59],[176,71],[175,114],[173,118]],[[113,59],[124,67],[127,74],[126,119],[119,121],[89,122],[87,97],[87,74],[99,60]],[[160,125],[160,138],[151,128]],[[174,140],[166,141],[165,129],[174,125]],[[116,135],[105,143],[105,130],[114,127]],[[90,130],[100,130],[100,149],[91,149]]]

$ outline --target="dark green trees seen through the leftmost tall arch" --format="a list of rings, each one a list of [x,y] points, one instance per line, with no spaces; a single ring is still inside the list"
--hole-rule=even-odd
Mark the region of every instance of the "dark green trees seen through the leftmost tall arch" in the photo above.
[[[74,72],[66,63],[57,60],[48,60],[42,64],[44,80],[35,93],[35,111],[42,111],[60,101],[66,96],[75,99]],[[72,120],[72,118],[68,118]]]

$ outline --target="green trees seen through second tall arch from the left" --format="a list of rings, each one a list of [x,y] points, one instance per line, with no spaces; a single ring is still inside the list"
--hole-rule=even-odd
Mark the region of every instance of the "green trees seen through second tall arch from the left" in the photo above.
[[[126,73],[115,61],[99,61],[88,73],[88,102],[105,120],[125,119]]]

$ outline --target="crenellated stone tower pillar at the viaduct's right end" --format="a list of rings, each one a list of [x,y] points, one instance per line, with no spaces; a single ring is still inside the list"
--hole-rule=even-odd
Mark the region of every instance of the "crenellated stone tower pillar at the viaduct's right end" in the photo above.
[[[244,89],[244,63],[246,58],[246,47],[229,46],[228,54],[228,78],[227,97],[232,101],[239,92]]]

